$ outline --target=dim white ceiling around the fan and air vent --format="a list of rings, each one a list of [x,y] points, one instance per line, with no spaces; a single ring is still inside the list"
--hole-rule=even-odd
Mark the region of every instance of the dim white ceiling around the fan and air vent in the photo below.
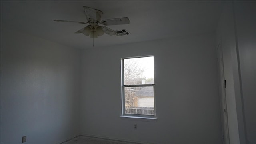
[[[220,1],[2,1],[1,27],[58,42],[73,48],[92,48],[93,40],[74,34],[87,22],[83,6],[99,9],[103,19],[128,17],[130,24],[108,26],[126,29],[131,35],[103,36],[95,47],[164,39],[214,31],[220,16]]]

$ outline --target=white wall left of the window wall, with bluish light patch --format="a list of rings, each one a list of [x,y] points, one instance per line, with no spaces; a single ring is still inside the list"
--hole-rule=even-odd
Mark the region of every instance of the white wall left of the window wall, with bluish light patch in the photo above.
[[[1,25],[1,142],[55,144],[79,134],[80,50]]]

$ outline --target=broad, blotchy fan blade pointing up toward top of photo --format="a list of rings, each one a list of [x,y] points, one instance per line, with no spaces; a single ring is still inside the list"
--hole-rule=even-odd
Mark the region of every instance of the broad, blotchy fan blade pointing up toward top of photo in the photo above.
[[[90,20],[100,21],[103,12],[94,8],[90,8],[88,6],[84,6],[84,14],[86,16],[87,21],[90,21]]]

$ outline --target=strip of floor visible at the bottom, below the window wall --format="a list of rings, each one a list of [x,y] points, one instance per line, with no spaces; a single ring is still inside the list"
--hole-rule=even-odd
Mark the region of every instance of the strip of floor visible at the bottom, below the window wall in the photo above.
[[[62,144],[138,144],[132,142],[122,142],[117,140],[107,140],[102,138],[92,138],[86,136],[80,136],[78,138],[74,138],[68,142],[64,142]]]

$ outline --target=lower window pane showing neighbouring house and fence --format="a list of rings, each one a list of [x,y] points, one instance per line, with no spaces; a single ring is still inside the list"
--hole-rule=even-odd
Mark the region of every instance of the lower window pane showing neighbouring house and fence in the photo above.
[[[125,114],[154,115],[154,87],[124,87]]]

